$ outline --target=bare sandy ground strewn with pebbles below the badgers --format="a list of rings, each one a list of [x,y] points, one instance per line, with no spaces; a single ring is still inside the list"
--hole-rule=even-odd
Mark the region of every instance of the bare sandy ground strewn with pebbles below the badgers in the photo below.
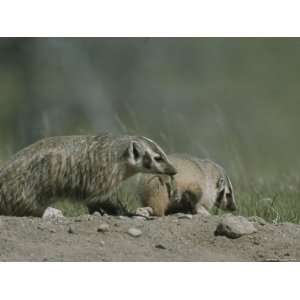
[[[83,215],[0,217],[1,261],[299,261],[300,226],[255,223],[256,233],[215,236],[218,216],[153,220]],[[101,224],[108,229],[101,232]],[[103,226],[103,225],[102,225]],[[128,234],[131,227],[142,231]]]

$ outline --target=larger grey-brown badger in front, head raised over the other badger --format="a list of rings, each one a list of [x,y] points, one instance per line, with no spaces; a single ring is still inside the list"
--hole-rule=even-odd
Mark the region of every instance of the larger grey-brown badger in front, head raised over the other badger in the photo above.
[[[174,175],[176,169],[145,137],[45,138],[0,168],[0,215],[41,216],[55,197],[93,205],[138,172]]]

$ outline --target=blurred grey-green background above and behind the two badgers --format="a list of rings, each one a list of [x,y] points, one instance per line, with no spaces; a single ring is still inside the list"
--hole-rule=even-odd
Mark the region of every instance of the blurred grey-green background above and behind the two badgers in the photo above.
[[[1,38],[0,159],[45,136],[130,132],[234,182],[295,180],[299,79],[298,38]]]

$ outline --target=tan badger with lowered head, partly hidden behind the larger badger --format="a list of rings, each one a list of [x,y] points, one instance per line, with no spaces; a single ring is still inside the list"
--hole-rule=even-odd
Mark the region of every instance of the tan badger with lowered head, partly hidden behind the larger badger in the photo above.
[[[139,174],[136,180],[139,198],[156,216],[175,212],[205,213],[218,207],[235,210],[232,184],[224,169],[210,160],[172,154],[168,155],[178,173],[174,180],[167,176]]]

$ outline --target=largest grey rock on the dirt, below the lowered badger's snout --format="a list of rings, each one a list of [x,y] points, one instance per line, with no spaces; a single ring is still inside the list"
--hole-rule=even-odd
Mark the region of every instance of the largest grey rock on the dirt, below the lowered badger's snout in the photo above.
[[[215,235],[236,239],[242,235],[257,232],[254,225],[242,216],[224,215],[218,224]]]

